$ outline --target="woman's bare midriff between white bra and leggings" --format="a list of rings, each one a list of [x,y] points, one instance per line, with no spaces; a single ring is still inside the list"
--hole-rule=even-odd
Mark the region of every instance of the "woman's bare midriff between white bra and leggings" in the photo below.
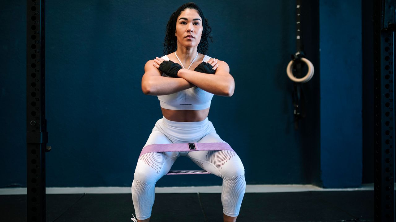
[[[168,120],[175,122],[199,122],[209,114],[209,108],[201,110],[172,110],[161,107],[162,115]]]

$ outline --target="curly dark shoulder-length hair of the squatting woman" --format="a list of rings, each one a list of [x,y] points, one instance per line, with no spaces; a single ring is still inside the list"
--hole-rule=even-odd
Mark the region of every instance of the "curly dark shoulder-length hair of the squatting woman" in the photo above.
[[[183,6],[180,6],[175,12],[172,13],[171,17],[169,18],[168,24],[166,25],[166,35],[165,35],[165,40],[164,40],[165,55],[173,53],[177,49],[177,38],[175,36],[176,19],[177,19],[177,17],[179,17],[180,13],[187,8],[188,9],[196,9],[198,11],[200,17],[204,20],[204,23],[202,23],[203,30],[202,30],[201,41],[198,44],[198,49],[197,49],[198,53],[202,53],[202,54],[206,55],[206,53],[208,52],[208,47],[209,47],[208,38],[210,38],[211,42],[213,42],[212,36],[210,35],[212,28],[210,27],[210,25],[208,23],[208,19],[204,18],[202,10],[194,2],[188,2],[188,3],[184,4]],[[177,15],[176,15],[176,13],[177,13]]]

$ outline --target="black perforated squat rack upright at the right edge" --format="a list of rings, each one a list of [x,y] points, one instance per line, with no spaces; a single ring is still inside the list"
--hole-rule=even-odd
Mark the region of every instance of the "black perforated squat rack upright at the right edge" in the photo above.
[[[374,28],[374,220],[394,218],[395,0],[375,0]]]

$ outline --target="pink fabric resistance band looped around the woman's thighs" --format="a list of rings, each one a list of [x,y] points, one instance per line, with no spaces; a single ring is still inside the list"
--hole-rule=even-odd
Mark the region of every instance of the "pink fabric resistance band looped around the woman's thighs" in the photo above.
[[[139,158],[148,152],[190,152],[190,151],[234,151],[227,143],[164,143],[151,144],[143,148]],[[235,151],[234,151],[235,152]],[[205,170],[171,170],[166,175],[208,174]]]

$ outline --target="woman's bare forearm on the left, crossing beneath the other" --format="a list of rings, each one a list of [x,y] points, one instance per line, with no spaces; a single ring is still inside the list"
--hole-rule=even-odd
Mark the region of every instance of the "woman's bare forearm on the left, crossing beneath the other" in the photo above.
[[[142,79],[142,90],[147,95],[161,96],[194,87],[183,78],[171,78],[164,76],[150,76]]]

